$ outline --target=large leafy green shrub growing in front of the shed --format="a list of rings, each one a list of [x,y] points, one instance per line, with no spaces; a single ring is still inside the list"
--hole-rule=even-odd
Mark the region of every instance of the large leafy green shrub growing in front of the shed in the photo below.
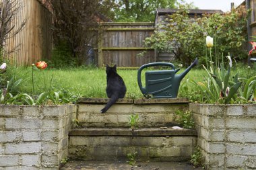
[[[145,46],[156,48],[158,52],[174,54],[182,64],[189,65],[195,57],[205,63],[205,37],[214,37],[215,58],[228,54],[236,59],[247,57],[244,48],[247,42],[247,11],[245,7],[232,9],[230,13],[214,13],[203,17],[189,17],[189,6],[180,10],[158,25],[158,29],[150,38],[146,38]],[[202,48],[205,47],[205,48]]]

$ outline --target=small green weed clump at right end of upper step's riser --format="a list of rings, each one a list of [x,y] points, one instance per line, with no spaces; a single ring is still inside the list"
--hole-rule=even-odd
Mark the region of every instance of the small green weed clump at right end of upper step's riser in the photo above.
[[[193,120],[193,113],[189,110],[181,111],[181,110],[177,110],[176,111],[177,116],[179,116],[178,118],[178,122],[179,124],[181,124],[181,126],[183,126],[183,128],[195,128],[195,122]]]

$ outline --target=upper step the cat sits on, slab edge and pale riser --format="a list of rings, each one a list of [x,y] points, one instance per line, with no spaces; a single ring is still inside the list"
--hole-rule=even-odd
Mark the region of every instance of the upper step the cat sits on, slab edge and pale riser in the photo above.
[[[83,127],[129,127],[131,114],[139,115],[139,127],[177,126],[177,110],[188,110],[189,101],[176,99],[119,99],[100,114],[108,99],[78,100],[77,120]]]

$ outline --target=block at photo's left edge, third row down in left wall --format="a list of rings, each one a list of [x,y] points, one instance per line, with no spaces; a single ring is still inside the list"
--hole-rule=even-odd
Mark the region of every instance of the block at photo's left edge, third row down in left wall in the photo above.
[[[22,135],[18,131],[0,131],[1,142],[17,142],[21,140]]]

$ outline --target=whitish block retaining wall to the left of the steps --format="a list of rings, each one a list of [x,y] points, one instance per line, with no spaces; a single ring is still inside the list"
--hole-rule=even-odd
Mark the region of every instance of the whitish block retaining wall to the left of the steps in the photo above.
[[[59,169],[76,105],[0,105],[0,169]]]

